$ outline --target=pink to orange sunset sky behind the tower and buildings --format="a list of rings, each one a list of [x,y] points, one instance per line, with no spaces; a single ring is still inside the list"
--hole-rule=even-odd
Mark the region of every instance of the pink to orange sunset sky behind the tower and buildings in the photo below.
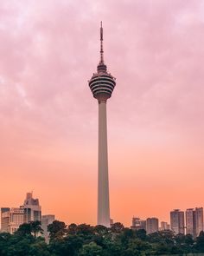
[[[1,0],[0,207],[34,190],[42,213],[96,223],[101,20],[112,218],[204,207],[201,0]]]

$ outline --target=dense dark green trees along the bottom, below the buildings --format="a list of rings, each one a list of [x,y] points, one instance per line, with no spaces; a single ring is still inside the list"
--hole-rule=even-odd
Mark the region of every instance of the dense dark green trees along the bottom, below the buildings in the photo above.
[[[39,235],[41,223],[23,224],[14,234],[0,233],[0,256],[137,256],[204,253],[204,233],[191,235],[161,231],[146,235],[115,223],[111,228],[86,224],[48,226],[50,241]]]

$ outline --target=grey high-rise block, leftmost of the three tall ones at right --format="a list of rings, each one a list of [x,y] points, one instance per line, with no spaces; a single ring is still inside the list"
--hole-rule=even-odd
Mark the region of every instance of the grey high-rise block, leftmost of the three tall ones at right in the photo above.
[[[170,226],[175,234],[183,233],[184,234],[184,212],[179,209],[175,209],[170,212]]]

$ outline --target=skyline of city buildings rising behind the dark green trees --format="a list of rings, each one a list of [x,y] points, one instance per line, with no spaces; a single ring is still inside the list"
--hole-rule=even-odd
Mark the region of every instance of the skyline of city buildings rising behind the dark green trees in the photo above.
[[[40,220],[41,225],[44,226],[43,229],[46,229],[46,223],[54,221],[55,215],[50,213],[42,214],[42,212],[39,199],[33,197],[33,192],[29,192],[26,194],[26,199],[20,207],[10,207],[8,205],[0,206],[0,232],[6,231],[9,228],[10,233],[13,233],[22,223],[28,223],[29,221],[34,220]],[[14,222],[8,222],[9,215],[10,221],[13,220]],[[12,215],[16,215],[16,217],[12,217]],[[112,226],[112,224],[116,222],[119,221],[110,219],[109,224]],[[74,223],[80,224],[76,221]],[[66,222],[66,224],[70,225],[72,222]],[[90,223],[86,224],[90,225]],[[104,223],[105,226],[106,224],[107,223]],[[110,225],[107,225],[107,227],[110,227]],[[130,219],[129,225],[126,225],[126,227],[130,227],[135,230],[145,229],[147,233],[172,230],[175,234],[192,234],[192,236],[196,238],[201,231],[204,231],[203,207],[188,208],[185,209],[185,211],[181,209],[173,209],[169,212],[168,221],[163,221],[157,216],[150,214],[148,217],[142,219],[138,215],[133,215]]]

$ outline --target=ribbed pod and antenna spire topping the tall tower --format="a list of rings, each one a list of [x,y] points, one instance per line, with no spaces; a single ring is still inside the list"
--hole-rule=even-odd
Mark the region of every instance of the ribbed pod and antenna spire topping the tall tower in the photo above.
[[[106,101],[112,96],[112,91],[116,85],[115,78],[107,73],[107,67],[104,62],[103,49],[103,27],[102,22],[100,26],[100,61],[97,66],[97,73],[92,75],[89,81],[89,87],[92,90],[92,95],[98,101]]]

